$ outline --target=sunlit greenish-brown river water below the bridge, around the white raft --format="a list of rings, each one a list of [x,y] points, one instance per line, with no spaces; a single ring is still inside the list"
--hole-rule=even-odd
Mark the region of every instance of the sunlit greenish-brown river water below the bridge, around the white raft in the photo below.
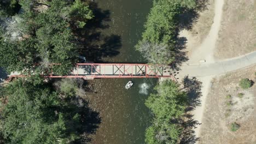
[[[89,86],[93,84],[95,89],[86,91],[91,107],[102,117],[92,143],[144,143],[144,131],[152,119],[144,102],[153,91],[149,85],[155,85],[156,80],[132,79],[131,89],[125,89],[128,79],[124,82],[123,79],[107,80],[112,89],[103,84],[106,80],[95,79],[89,81]]]

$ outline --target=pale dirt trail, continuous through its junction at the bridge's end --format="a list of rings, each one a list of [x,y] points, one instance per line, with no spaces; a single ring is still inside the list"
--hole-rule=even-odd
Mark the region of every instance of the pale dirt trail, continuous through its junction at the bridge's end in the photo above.
[[[200,98],[201,106],[197,106],[196,109],[192,112],[192,114],[194,115],[194,119],[199,123],[202,122],[203,109],[205,108],[206,97],[211,87],[212,77],[214,76],[214,74],[204,75],[203,73],[205,72],[201,70],[201,65],[199,65],[199,61],[201,59],[206,60],[205,64],[208,65],[208,67],[206,67],[205,69],[207,70],[208,68],[211,67],[211,65],[209,64],[215,62],[213,55],[214,55],[214,49],[216,47],[216,41],[218,39],[220,25],[222,22],[224,0],[216,0],[214,4],[215,4],[214,5],[215,15],[214,15],[213,24],[211,26],[209,34],[207,35],[205,40],[203,40],[202,44],[199,47],[197,47],[197,49],[195,49],[192,55],[189,57],[189,61],[186,63],[187,65],[183,65],[181,67],[181,71],[178,75],[179,77],[184,77],[185,75],[189,75],[189,76],[202,75],[202,77],[199,77],[199,80],[202,82],[202,89],[201,89],[202,96]],[[188,39],[187,45],[191,45],[189,39]],[[193,66],[190,66],[190,65],[193,65]],[[218,65],[216,67],[218,67]],[[192,72],[191,70],[194,72]],[[211,70],[212,69],[210,69],[210,71]],[[196,137],[200,136],[200,128],[201,128],[201,125],[197,125],[197,128],[195,128]]]

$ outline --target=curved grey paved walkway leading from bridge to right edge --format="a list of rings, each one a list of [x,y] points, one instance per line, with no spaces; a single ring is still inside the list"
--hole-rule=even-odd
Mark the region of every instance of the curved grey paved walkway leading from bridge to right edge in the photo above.
[[[201,65],[182,65],[179,76],[210,76],[248,67],[256,64],[256,51],[246,55],[226,59],[220,62],[205,63]]]

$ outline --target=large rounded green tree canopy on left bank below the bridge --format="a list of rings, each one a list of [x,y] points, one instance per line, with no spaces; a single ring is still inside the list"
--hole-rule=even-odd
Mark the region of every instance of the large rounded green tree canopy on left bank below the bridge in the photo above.
[[[84,116],[78,111],[81,108],[71,103],[71,96],[62,98],[39,77],[18,79],[2,87],[0,131],[4,141],[72,143],[81,139]]]

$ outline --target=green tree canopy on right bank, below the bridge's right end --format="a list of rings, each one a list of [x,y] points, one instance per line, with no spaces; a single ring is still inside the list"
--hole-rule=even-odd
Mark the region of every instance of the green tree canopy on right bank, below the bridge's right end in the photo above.
[[[179,91],[178,84],[165,80],[155,87],[146,106],[153,112],[154,120],[146,130],[146,143],[177,143],[182,126],[178,123],[188,106],[187,93]]]

